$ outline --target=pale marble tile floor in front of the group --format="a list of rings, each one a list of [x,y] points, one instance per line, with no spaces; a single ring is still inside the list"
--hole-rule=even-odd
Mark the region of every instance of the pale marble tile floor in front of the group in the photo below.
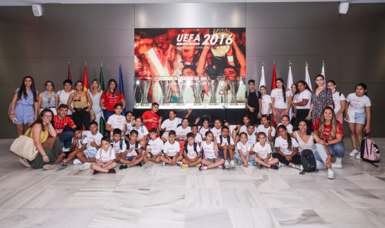
[[[335,180],[290,167],[33,170],[11,143],[0,140],[0,227],[385,227],[384,160],[350,158],[350,138]]]

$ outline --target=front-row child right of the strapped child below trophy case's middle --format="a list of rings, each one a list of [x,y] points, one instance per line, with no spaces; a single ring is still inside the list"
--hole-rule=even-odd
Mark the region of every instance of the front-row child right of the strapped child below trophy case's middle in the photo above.
[[[223,163],[225,160],[219,158],[219,153],[216,145],[216,140],[211,131],[206,132],[206,141],[202,142],[202,147],[204,159],[202,160],[202,165],[199,167],[199,170],[211,169],[219,167],[225,169]]]

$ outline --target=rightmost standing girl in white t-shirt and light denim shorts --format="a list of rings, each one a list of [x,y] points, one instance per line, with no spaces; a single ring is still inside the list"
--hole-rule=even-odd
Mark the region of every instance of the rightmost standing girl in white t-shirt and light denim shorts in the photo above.
[[[368,89],[366,84],[358,84],[355,86],[355,93],[350,93],[346,97],[346,116],[345,121],[348,122],[350,138],[353,144],[353,151],[349,153],[351,157],[361,159],[359,150],[361,150],[362,129],[365,125],[365,133],[370,132],[370,120],[371,120],[371,102],[366,93]],[[358,147],[357,147],[358,140]]]

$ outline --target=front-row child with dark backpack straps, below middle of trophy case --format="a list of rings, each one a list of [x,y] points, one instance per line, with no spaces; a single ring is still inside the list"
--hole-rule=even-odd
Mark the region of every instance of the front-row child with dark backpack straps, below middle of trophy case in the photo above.
[[[193,167],[197,166],[200,167],[200,162],[202,161],[202,158],[200,158],[200,146],[196,141],[194,137],[194,133],[189,132],[186,135],[187,142],[183,146],[183,158],[182,162],[176,162],[178,166],[181,168],[187,168],[187,167]]]

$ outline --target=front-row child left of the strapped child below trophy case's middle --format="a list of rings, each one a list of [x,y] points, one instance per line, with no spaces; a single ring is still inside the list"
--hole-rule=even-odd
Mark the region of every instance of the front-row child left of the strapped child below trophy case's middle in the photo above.
[[[169,140],[165,142],[165,149],[163,149],[164,156],[159,157],[163,162],[163,166],[166,164],[174,165],[183,158],[182,155],[180,155],[179,143],[175,142],[176,132],[171,130],[168,133]]]

